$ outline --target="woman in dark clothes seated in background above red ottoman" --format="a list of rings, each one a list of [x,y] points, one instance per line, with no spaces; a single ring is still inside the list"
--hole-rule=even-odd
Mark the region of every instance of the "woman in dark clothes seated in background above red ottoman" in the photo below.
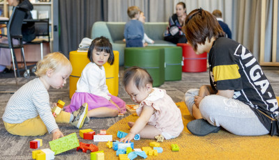
[[[169,26],[164,33],[164,40],[174,44],[187,42],[185,34],[181,31],[186,16],[186,4],[183,2],[177,3],[176,13],[169,17]]]

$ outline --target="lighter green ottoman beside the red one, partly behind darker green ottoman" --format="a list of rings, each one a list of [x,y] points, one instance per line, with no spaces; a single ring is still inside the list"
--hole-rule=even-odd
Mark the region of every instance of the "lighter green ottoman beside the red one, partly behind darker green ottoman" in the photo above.
[[[165,81],[179,81],[182,77],[182,49],[181,47],[156,46],[165,52]]]

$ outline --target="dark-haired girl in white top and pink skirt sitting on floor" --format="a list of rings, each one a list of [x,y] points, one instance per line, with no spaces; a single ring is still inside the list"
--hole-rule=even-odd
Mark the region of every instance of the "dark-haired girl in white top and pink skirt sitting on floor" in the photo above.
[[[101,36],[91,42],[88,51],[91,61],[82,70],[82,76],[77,81],[70,105],[65,111],[73,112],[85,102],[88,104],[88,116],[94,118],[115,117],[126,112],[126,104],[122,99],[111,95],[105,83],[105,63],[114,63],[114,54],[110,40]]]

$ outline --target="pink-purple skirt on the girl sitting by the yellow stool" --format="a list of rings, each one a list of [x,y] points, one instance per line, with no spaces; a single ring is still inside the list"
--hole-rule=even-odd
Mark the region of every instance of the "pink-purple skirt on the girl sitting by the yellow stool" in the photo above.
[[[112,101],[117,104],[117,106],[119,106],[121,113],[125,113],[126,103],[119,97],[114,95],[109,96],[111,97]],[[110,109],[116,109],[117,111],[119,110],[117,106],[112,104],[109,100],[91,93],[74,93],[72,99],[70,100],[70,105],[65,106],[64,109],[66,112],[73,112],[77,109],[80,109],[80,106],[82,106],[84,103],[88,104],[88,111],[91,109],[97,109],[99,107],[107,107]]]

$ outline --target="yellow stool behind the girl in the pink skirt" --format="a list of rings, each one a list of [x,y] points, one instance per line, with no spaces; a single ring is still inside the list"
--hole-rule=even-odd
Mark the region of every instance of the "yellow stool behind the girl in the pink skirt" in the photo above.
[[[105,78],[107,83],[107,88],[110,94],[118,95],[118,83],[119,83],[119,52],[114,52],[114,64],[110,65],[105,63]],[[87,58],[87,52],[77,52],[70,51],[70,63],[73,66],[73,72],[70,74],[70,98],[72,98],[75,90],[77,90],[77,81],[82,75],[82,70],[89,63],[89,58]]]

